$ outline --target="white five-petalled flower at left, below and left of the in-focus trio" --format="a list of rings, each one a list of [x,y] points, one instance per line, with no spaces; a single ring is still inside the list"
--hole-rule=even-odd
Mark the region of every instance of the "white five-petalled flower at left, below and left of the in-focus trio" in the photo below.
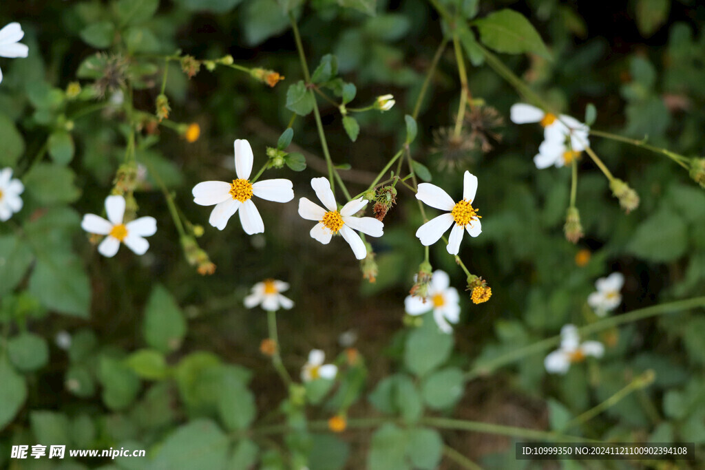
[[[108,220],[95,214],[86,214],[81,222],[81,228],[86,232],[107,235],[98,245],[98,252],[106,258],[111,258],[123,242],[135,254],[145,254],[149,249],[149,242],[144,237],[157,233],[157,220],[154,217],[140,217],[123,223],[125,198],[122,196],[106,197],[105,211]]]

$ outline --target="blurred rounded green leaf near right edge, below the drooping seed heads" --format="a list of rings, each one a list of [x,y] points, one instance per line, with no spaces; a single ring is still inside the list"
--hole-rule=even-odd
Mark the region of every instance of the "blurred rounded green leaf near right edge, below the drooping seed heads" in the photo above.
[[[673,211],[661,209],[639,224],[627,252],[649,261],[673,261],[687,249],[687,227]]]

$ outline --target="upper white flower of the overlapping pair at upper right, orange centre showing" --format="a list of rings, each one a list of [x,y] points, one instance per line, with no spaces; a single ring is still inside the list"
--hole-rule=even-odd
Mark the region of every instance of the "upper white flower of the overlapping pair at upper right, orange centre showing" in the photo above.
[[[510,119],[515,124],[541,124],[544,128],[544,138],[548,141],[565,142],[565,139],[570,137],[570,148],[574,151],[583,151],[590,145],[590,128],[566,114],[556,116],[536,106],[517,103],[510,109]]]

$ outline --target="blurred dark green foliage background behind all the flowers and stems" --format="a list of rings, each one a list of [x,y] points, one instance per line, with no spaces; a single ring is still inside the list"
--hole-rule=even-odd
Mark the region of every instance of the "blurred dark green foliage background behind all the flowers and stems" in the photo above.
[[[466,20],[501,8],[525,15],[548,55],[499,56],[556,109],[582,120],[594,104],[596,129],[701,155],[705,7],[699,2],[441,4],[459,6]],[[307,236],[309,223],[296,214],[295,202],[262,206],[263,235],[248,237],[236,221],[222,233],[207,224],[209,209],[192,203],[192,186],[231,178],[236,138],[250,140],[259,168],[266,147],[276,147],[292,119],[288,87],[303,76],[283,13],[288,10],[297,18],[309,68],[334,54],[341,78],[356,85],[350,107],[388,93],[396,99],[391,111],[352,114],[360,126],[354,143],[338,108],[318,100],[333,162],[352,168],[341,175],[353,194],[361,192],[403,144],[404,115],[412,112],[443,41],[431,4],[35,0],[0,6],[0,24],[20,22],[30,47],[27,58],[0,58],[0,166],[13,168],[26,187],[23,210],[0,224],[0,466],[49,468],[54,462],[47,459],[9,459],[11,445],[66,443],[145,448],[149,458],[66,459],[56,464],[63,469],[458,468],[452,457],[441,457],[443,445],[488,468],[529,468],[514,460],[510,438],[439,433],[422,426],[424,409],[429,416],[598,440],[705,443],[702,311],[596,335],[607,345],[606,356],[566,376],[548,376],[544,355],[534,354],[465,381],[464,370],[556,335],[565,323],[585,323],[594,280],[612,271],[626,278],[615,315],[705,293],[705,192],[687,171],[664,156],[591,137],[641,204],[623,214],[607,180],[584,157],[577,207],[586,236],[571,244],[563,235],[570,170],[537,171],[532,157],[540,129],[510,123],[508,110],[520,98],[482,56],[468,61],[476,104],[464,140],[448,139],[460,89],[448,47],[422,101],[411,147],[433,183],[450,194],[460,193],[463,171],[479,178],[483,233],[466,237],[460,257],[488,280],[493,296],[473,305],[469,293],[461,295],[453,336],[438,333],[430,319],[418,328],[403,324],[403,298],[424,256],[413,236],[422,218],[403,187],[384,220],[384,237],[373,243],[375,283],[362,279],[339,240],[322,246]],[[168,62],[164,93],[175,125],[139,128],[136,150],[147,170],[137,180],[139,214],[157,218],[159,231],[145,256],[122,249],[104,259],[80,230],[80,218],[102,211],[125,159],[131,132],[125,116],[154,113],[164,56],[179,49],[200,60],[231,54],[236,65],[276,70],[285,80],[269,87],[221,65],[201,67],[189,78],[178,61]],[[71,89],[73,82],[80,82],[80,92]],[[187,142],[180,123],[200,125],[200,138]],[[303,154],[307,170],[267,175],[290,178],[297,197],[311,197],[310,178],[326,173],[312,116],[296,118],[293,130],[288,151]],[[183,219],[204,226],[198,243],[216,264],[214,275],[200,276],[182,255],[161,183]],[[431,264],[450,273],[462,291],[465,276],[443,244],[431,247]],[[278,316],[290,373],[298,376],[312,348],[342,368],[333,390],[327,382],[305,390],[305,400],[316,405],[306,413],[259,352],[267,336],[264,314],[242,304],[250,286],[264,278],[289,282],[286,295],[296,302]],[[71,334],[66,351],[54,343],[61,330]],[[338,344],[347,330],[357,335],[357,361]],[[649,369],[656,373],[651,385],[566,428]],[[334,435],[324,432],[325,423],[305,431],[306,419],[320,424],[316,420],[348,407],[351,419],[389,415],[400,421],[374,433],[363,428]],[[286,433],[276,431],[283,421]],[[247,431],[252,426],[274,431]]]

